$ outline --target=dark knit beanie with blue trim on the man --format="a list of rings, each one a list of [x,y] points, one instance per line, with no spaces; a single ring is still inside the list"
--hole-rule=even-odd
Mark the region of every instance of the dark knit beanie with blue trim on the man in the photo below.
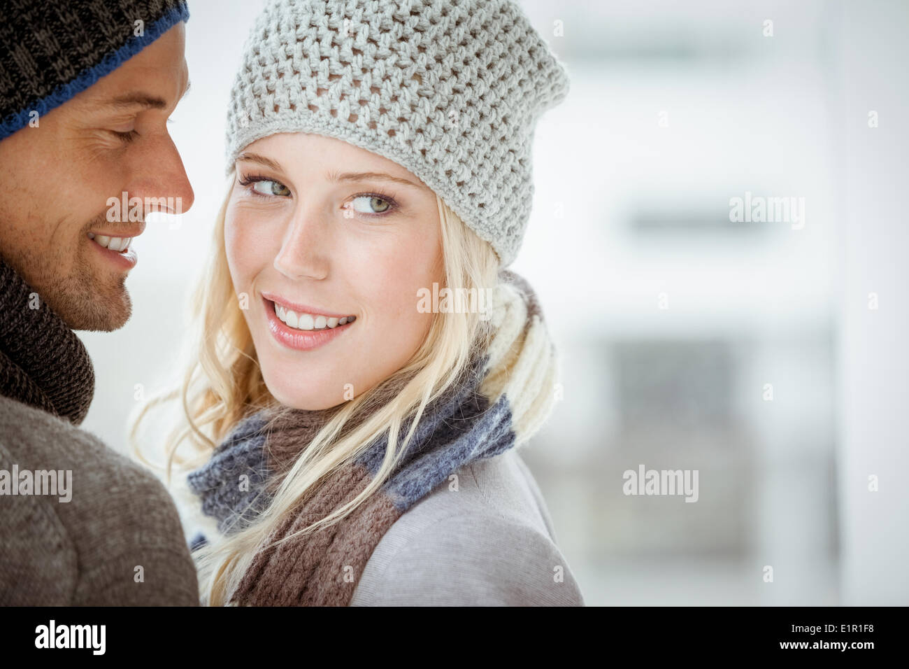
[[[0,139],[109,75],[189,18],[185,0],[4,0]]]

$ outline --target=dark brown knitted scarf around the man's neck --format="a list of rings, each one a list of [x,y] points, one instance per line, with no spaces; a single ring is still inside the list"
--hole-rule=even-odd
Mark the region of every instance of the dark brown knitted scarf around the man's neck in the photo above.
[[[95,394],[85,345],[0,258],[0,395],[79,425]]]

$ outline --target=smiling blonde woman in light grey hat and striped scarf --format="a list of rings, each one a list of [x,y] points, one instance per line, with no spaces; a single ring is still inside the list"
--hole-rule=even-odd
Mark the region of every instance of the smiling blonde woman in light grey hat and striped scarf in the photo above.
[[[536,117],[567,89],[503,0],[259,15],[169,395],[171,461],[202,451],[189,484],[217,521],[194,543],[204,603],[583,604],[515,453],[557,364],[504,269]]]

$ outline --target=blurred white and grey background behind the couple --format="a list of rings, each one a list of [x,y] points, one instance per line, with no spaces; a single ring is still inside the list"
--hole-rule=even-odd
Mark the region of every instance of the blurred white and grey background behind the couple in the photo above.
[[[519,4],[572,79],[536,132],[512,268],[564,366],[524,459],[587,603],[909,603],[909,5]],[[195,205],[139,239],[126,327],[80,333],[84,427],[121,451],[136,384],[173,378],[261,5],[190,0],[172,135]],[[745,191],[804,198],[804,228],[730,222]],[[639,464],[698,470],[698,502],[625,496]]]

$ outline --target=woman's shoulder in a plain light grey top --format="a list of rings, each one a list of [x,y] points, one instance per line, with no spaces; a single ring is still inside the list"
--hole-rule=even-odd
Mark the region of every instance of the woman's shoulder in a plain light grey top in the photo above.
[[[520,455],[464,467],[385,532],[352,606],[584,605]]]

